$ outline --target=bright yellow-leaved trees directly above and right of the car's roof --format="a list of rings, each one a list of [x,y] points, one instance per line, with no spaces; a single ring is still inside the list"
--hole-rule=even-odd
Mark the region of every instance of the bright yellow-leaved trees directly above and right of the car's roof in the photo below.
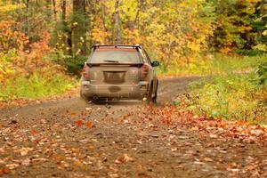
[[[113,44],[115,0],[101,2],[93,29],[87,34],[93,44]],[[207,8],[205,8],[207,6]],[[104,9],[104,10],[103,10]],[[207,39],[213,36],[214,7],[205,0],[155,3],[147,0],[120,0],[119,18],[122,44],[142,44],[155,59],[166,66],[188,62],[208,49]],[[183,57],[182,57],[183,56]]]

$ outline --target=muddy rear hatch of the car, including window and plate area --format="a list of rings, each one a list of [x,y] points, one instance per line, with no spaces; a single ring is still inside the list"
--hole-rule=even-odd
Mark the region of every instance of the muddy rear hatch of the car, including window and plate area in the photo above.
[[[134,85],[140,80],[141,56],[135,48],[95,49],[87,65],[93,85]]]

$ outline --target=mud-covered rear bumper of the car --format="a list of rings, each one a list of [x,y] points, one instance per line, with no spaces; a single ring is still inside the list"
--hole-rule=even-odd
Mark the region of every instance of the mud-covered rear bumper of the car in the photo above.
[[[86,98],[118,98],[140,100],[147,95],[149,83],[139,82],[137,85],[93,85],[82,81],[81,94]]]

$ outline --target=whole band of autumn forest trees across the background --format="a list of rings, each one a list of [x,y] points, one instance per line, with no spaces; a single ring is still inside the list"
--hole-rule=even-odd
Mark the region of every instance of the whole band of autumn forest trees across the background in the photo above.
[[[5,17],[2,26],[16,28],[4,35],[2,47],[28,43],[23,45],[30,48],[47,29],[49,47],[56,49],[53,61],[76,74],[92,44],[142,44],[164,72],[206,62],[213,52],[266,53],[266,4],[261,0],[40,0],[0,7],[0,15],[12,17]]]

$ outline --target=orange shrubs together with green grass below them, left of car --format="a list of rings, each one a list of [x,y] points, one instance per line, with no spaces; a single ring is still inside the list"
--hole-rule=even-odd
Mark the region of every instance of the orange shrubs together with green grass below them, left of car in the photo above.
[[[20,25],[10,18],[0,20],[0,101],[36,98],[66,90],[70,77],[64,74],[63,67],[49,59],[53,53],[49,45],[51,35],[43,31],[40,39],[31,43]],[[67,84],[61,85],[64,80]],[[51,85],[62,88],[51,89]]]

